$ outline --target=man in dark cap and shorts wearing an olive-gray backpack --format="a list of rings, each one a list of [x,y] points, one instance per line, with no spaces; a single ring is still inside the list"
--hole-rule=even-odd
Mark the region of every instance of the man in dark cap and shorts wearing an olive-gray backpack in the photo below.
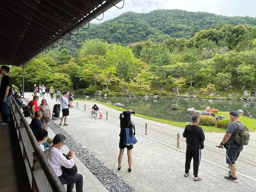
[[[225,147],[227,150],[226,162],[230,171],[228,171],[229,176],[225,176],[224,179],[237,183],[236,160],[243,150],[243,146],[248,145],[250,135],[248,128],[239,121],[239,113],[237,111],[231,111],[229,114],[231,122],[227,125],[226,134],[218,147]]]

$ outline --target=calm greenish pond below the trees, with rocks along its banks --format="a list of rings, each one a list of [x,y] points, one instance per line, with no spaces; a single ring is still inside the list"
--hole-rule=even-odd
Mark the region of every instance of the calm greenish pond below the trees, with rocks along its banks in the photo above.
[[[218,109],[220,111],[237,111],[239,109],[247,109],[253,117],[256,117],[256,104],[248,101],[231,101],[231,100],[209,100],[209,99],[193,99],[193,98],[177,98],[172,96],[160,96],[162,99],[134,98],[134,97],[121,97],[121,96],[95,96],[88,95],[90,99],[96,99],[107,103],[119,102],[124,104],[124,109],[131,109],[136,113],[144,116],[155,117],[159,119],[166,119],[176,122],[191,122],[191,117],[188,116],[187,109],[194,107],[195,110],[205,110],[207,106]],[[85,99],[86,95],[75,95],[75,98]],[[178,110],[171,110],[172,104],[178,105]],[[229,117],[229,113],[227,113]]]

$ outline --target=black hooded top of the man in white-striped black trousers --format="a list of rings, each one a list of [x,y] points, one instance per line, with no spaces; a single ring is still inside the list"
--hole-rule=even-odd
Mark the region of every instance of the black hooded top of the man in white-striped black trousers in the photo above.
[[[189,150],[201,149],[200,143],[205,139],[203,129],[198,125],[187,125],[183,137],[187,138],[186,143]]]

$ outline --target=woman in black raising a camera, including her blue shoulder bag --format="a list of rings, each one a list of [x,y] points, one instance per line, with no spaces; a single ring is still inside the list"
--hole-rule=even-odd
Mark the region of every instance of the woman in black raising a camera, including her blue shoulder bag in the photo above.
[[[124,154],[124,149],[127,148],[127,156],[128,156],[128,172],[131,173],[131,150],[133,148],[133,144],[137,142],[135,139],[135,126],[134,123],[131,122],[131,113],[134,113],[132,110],[128,109],[120,114],[120,141],[119,141],[119,156],[118,156],[118,171],[121,170],[122,157]],[[133,132],[134,130],[134,132]],[[126,133],[128,133],[126,135]],[[127,137],[126,137],[127,136]],[[128,142],[128,138],[130,142]]]

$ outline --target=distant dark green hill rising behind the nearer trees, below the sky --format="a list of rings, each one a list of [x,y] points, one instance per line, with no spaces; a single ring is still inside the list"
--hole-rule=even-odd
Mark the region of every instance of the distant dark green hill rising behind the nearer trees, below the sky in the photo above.
[[[247,23],[256,25],[256,18],[249,16],[221,16],[206,12],[184,10],[154,10],[149,13],[126,12],[100,24],[90,24],[89,29],[80,29],[72,36],[67,48],[79,49],[84,40],[101,39],[108,43],[128,45],[151,39],[163,42],[167,38],[190,38],[201,29],[216,28],[223,24],[233,26]]]

